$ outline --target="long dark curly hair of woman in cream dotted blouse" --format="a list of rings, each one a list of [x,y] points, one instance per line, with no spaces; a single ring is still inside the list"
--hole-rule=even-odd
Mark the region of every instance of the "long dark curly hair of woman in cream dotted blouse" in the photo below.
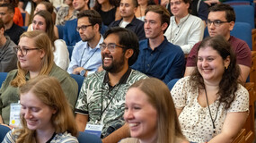
[[[238,80],[240,68],[238,64],[236,64],[236,55],[234,54],[231,45],[222,36],[205,38],[199,45],[198,53],[199,49],[206,48],[208,46],[216,50],[223,60],[228,56],[230,57],[230,63],[222,75],[222,79],[219,82],[219,90],[217,92],[217,95],[220,97],[219,102],[225,103],[225,109],[228,109],[234,101],[234,93],[238,88],[238,83],[241,83]],[[198,68],[193,71],[190,77],[190,83],[193,83],[192,89],[205,88],[204,79],[199,73]]]

